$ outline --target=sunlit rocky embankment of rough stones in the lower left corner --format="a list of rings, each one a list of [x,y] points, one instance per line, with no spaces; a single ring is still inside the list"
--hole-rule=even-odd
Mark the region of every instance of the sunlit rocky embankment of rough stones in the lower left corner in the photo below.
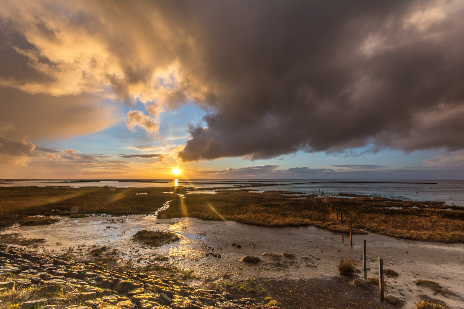
[[[251,298],[203,290],[153,274],[104,268],[0,244],[1,307],[34,309],[250,309],[277,308]],[[20,291],[27,293],[20,293]],[[15,299],[17,295],[17,298]],[[28,295],[24,297],[24,295]],[[49,296],[47,298],[47,296]],[[13,299],[11,299],[13,297]],[[21,301],[20,301],[20,297]]]

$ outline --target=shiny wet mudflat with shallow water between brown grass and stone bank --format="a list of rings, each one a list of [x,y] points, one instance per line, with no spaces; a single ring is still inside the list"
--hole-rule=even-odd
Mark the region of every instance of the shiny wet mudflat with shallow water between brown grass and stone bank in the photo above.
[[[168,207],[168,202],[163,207]],[[161,211],[161,209],[160,209]],[[231,279],[247,277],[267,278],[329,278],[338,275],[337,264],[342,258],[353,258],[362,269],[362,242],[367,240],[367,277],[378,277],[378,258],[384,260],[384,268],[400,273],[400,277],[385,276],[386,293],[406,299],[406,307],[419,301],[419,294],[439,298],[451,306],[464,307],[462,300],[433,295],[431,290],[419,288],[416,279],[438,282],[449,290],[464,296],[464,246],[398,240],[377,234],[354,235],[353,246],[349,236],[332,233],[316,227],[257,227],[233,221],[203,221],[194,218],[156,219],[151,215],[134,215],[109,219],[92,216],[61,221],[49,226],[14,227],[3,233],[22,233],[26,238],[45,238],[45,250],[55,253],[78,246],[110,246],[118,248],[123,256],[139,264],[175,265],[182,269],[193,269],[206,277]],[[137,230],[150,229],[178,233],[179,242],[150,249],[130,240]],[[57,246],[57,243],[60,245]],[[232,246],[232,243],[240,245]],[[347,246],[348,245],[348,246]],[[138,251],[137,251],[138,250]],[[137,251],[137,252],[134,252]],[[221,258],[206,256],[219,253]],[[296,259],[270,259],[264,252],[293,253]],[[86,251],[75,251],[76,258],[85,257]],[[241,259],[245,255],[259,256],[258,264],[247,264]],[[166,256],[167,261],[156,257]],[[301,259],[308,257],[309,259]],[[310,261],[310,263],[308,263]],[[306,266],[306,265],[309,266]],[[364,273],[360,274],[362,278]]]

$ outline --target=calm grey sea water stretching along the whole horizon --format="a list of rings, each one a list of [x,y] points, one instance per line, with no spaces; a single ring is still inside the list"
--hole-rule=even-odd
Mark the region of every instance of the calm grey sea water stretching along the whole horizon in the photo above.
[[[270,185],[270,184],[276,185]],[[254,187],[265,190],[288,190],[328,195],[354,193],[411,199],[414,201],[442,201],[447,205],[464,207],[464,180],[304,180],[304,179],[179,179],[178,186],[194,188],[227,188],[232,186],[266,185]],[[270,186],[269,186],[270,185]],[[92,179],[92,180],[0,180],[0,186],[113,186],[113,187],[171,187],[174,179]],[[237,187],[240,189],[240,187]],[[214,193],[216,189],[200,191]]]

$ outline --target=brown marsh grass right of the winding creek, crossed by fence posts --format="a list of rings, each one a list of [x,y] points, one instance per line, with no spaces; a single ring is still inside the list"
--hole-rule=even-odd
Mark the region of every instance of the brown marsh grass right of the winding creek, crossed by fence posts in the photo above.
[[[159,214],[167,218],[194,217],[203,220],[233,220],[265,227],[314,225],[333,232],[379,233],[409,240],[464,243],[464,211],[442,202],[413,202],[380,197],[330,197],[344,226],[322,198],[295,199],[275,192],[244,191],[189,194],[176,199]],[[425,206],[427,205],[427,206]],[[453,210],[445,210],[452,208]],[[340,218],[340,215],[339,215]]]

